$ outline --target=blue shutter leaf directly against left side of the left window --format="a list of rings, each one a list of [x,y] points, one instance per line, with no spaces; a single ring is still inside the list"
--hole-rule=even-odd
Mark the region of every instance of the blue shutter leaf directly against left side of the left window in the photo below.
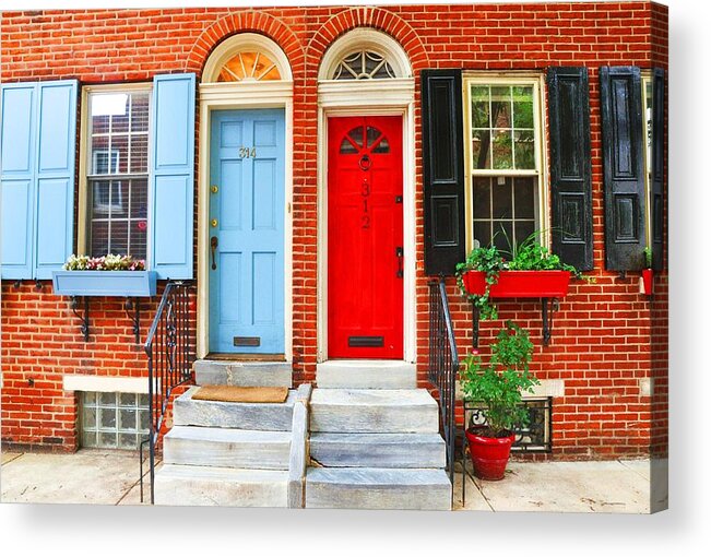
[[[51,278],[72,252],[76,81],[38,85],[35,277]]]

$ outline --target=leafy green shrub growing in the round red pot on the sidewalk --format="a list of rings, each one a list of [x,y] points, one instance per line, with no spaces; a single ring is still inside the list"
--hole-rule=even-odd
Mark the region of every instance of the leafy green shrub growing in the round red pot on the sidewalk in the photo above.
[[[529,371],[532,358],[528,331],[512,321],[506,322],[491,343],[487,364],[476,351],[464,358],[460,368],[462,391],[466,401],[486,406],[485,437],[507,437],[517,426],[528,425],[522,393],[540,384]]]

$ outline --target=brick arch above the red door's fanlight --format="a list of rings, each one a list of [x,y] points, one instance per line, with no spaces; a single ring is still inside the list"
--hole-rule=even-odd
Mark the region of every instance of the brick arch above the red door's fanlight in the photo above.
[[[371,27],[394,38],[407,54],[413,73],[429,66],[425,46],[406,21],[388,10],[363,5],[336,13],[309,40],[306,47],[309,74],[318,70],[323,54],[335,39],[357,27]]]

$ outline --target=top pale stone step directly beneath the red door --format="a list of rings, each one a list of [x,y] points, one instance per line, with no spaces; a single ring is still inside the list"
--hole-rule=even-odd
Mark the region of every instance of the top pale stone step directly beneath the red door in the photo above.
[[[316,365],[320,389],[415,389],[415,364],[391,359],[333,359]]]

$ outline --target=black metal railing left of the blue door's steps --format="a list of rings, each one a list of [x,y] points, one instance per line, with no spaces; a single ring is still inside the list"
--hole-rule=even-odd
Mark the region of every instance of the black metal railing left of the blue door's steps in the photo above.
[[[151,429],[149,438],[141,443],[141,502],[143,502],[143,446],[150,447],[151,505],[155,500],[155,453],[161,440],[174,389],[192,380],[194,352],[190,341],[189,282],[169,282],[158,305],[149,331],[144,349],[149,358],[149,401]]]

